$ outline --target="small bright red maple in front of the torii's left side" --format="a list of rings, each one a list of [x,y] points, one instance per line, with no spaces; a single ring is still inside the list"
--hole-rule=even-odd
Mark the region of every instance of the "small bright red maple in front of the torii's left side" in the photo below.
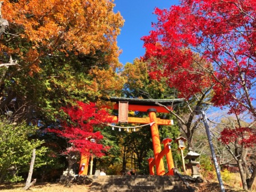
[[[95,103],[83,103],[77,101],[76,106],[63,107],[63,111],[69,116],[69,119],[61,122],[61,127],[49,129],[57,136],[64,137],[71,144],[65,153],[78,151],[84,155],[93,155],[101,157],[108,146],[100,143],[103,139],[100,131],[93,132],[94,127],[104,127],[105,123],[112,123],[113,119],[106,110],[98,110]],[[91,142],[94,139],[96,142]]]

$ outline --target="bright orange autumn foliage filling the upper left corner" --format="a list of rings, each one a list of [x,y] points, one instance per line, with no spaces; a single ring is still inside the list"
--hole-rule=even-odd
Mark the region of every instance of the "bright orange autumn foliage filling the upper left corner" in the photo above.
[[[34,73],[40,70],[40,59],[56,51],[68,56],[69,52],[93,55],[100,50],[107,53],[105,61],[116,68],[120,53],[116,39],[123,19],[113,7],[113,1],[106,0],[5,0],[2,16],[9,21],[10,31],[16,32],[11,37],[18,36],[31,48],[24,53],[18,46],[1,43],[0,50],[15,53],[24,61],[22,68]]]

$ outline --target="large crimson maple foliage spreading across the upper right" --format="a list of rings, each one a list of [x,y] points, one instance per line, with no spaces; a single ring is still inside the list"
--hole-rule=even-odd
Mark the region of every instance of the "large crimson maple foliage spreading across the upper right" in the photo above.
[[[209,86],[210,79],[215,106],[227,105],[236,114],[249,111],[255,118],[255,10],[254,0],[181,0],[170,10],[156,8],[158,23],[142,37],[150,76],[167,77],[185,98]],[[195,53],[213,68],[195,70]]]

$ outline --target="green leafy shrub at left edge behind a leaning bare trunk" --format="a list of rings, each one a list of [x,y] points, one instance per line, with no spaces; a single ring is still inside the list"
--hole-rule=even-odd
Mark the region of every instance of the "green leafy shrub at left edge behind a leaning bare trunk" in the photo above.
[[[47,152],[40,147],[44,141],[31,139],[37,127],[26,124],[14,125],[6,119],[0,120],[0,183],[23,180],[19,173],[28,172],[32,149],[36,148],[35,168],[45,165],[41,160]]]

